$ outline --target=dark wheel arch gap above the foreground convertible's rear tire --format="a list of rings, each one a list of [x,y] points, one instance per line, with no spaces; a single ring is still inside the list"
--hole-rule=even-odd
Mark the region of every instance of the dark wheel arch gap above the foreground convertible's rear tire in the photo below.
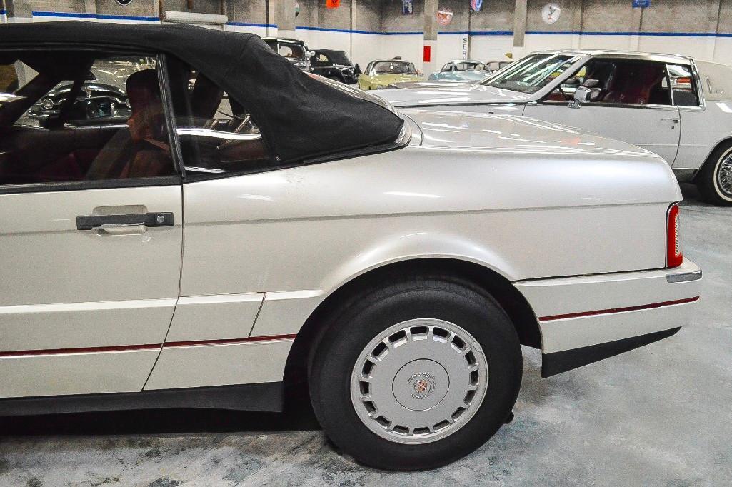
[[[470,280],[485,289],[511,319],[522,345],[541,349],[539,321],[523,294],[504,275],[473,261],[450,257],[425,257],[384,264],[343,283],[315,308],[305,321],[288,354],[284,381],[288,386],[307,382],[310,351],[326,331],[321,322],[340,302],[373,283],[403,272],[444,272]]]

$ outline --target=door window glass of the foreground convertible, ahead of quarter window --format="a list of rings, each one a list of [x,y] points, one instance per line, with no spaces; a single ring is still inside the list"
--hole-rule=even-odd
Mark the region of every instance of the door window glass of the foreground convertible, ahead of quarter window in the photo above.
[[[175,174],[154,57],[18,51],[0,73],[0,185]]]

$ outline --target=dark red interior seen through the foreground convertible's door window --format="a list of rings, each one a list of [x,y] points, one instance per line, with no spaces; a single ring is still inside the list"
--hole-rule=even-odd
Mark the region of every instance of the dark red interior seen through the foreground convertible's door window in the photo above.
[[[68,123],[98,53],[26,51],[0,54],[0,185],[128,179],[174,174],[157,71],[132,73],[120,83],[130,117],[123,124]],[[12,67],[12,70],[9,69]],[[12,75],[10,73],[14,72]],[[10,81],[10,83],[8,83]],[[60,83],[70,83],[57,113],[30,109]],[[90,114],[91,115],[91,114]]]

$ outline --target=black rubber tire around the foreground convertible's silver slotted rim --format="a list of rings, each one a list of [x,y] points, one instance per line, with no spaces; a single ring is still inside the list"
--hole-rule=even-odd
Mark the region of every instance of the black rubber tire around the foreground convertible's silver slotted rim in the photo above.
[[[485,400],[463,427],[422,445],[377,436],[359,419],[351,401],[351,371],[359,353],[392,325],[435,318],[457,324],[485,351]],[[448,275],[403,277],[343,302],[324,323],[311,354],[310,399],[333,443],[356,461],[379,469],[434,469],[466,456],[501,428],[518,397],[522,374],[515,327],[479,286]]]

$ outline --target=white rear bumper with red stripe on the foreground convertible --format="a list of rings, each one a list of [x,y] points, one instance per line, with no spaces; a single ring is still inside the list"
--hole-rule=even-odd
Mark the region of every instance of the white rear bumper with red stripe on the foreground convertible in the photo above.
[[[542,376],[673,335],[699,300],[701,269],[619,272],[515,283],[539,319]]]

